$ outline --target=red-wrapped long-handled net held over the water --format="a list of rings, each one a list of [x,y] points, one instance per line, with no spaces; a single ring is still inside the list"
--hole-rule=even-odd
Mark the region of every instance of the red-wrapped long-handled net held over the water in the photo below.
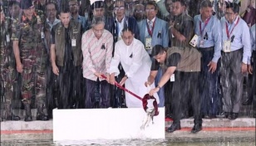
[[[106,79],[106,75],[101,75],[101,77],[103,79]],[[125,87],[121,86],[120,84],[118,84],[117,82],[115,82],[115,85],[120,88],[121,90],[125,90],[126,92],[130,93],[130,95],[135,96],[137,99],[142,101],[142,105],[143,105],[143,109],[146,111],[148,109],[147,105],[148,105],[148,100],[153,99],[153,105],[154,105],[154,109],[155,109],[155,116],[159,114],[158,111],[158,106],[157,106],[157,102],[155,100],[154,96],[150,96],[149,94],[144,95],[143,98],[141,98],[139,95],[136,95],[135,93],[131,92],[130,90],[127,90]]]

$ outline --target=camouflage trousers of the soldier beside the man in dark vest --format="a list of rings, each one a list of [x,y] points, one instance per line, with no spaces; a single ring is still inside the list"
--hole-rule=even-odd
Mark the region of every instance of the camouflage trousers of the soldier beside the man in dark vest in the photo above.
[[[37,56],[30,51],[30,56],[22,56],[22,101],[30,103],[36,97],[37,105],[45,105],[46,100],[46,62],[47,56]]]

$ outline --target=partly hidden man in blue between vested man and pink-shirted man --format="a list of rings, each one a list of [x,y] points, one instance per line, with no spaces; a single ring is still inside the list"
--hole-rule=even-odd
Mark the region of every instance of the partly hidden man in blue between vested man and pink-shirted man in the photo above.
[[[80,22],[82,31],[86,31],[88,29],[88,22],[86,22],[85,17],[79,15],[79,5],[77,0],[69,0],[68,6],[69,11],[71,12],[71,19],[74,19],[76,22]]]

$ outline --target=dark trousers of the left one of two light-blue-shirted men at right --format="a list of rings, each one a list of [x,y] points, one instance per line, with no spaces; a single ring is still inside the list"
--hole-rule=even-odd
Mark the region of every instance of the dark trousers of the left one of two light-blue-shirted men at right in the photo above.
[[[201,72],[199,75],[199,95],[201,96],[202,114],[216,115],[221,109],[221,99],[218,94],[218,73],[219,66],[217,65],[214,73],[209,72],[209,62],[214,56],[214,47],[199,48],[202,53]]]

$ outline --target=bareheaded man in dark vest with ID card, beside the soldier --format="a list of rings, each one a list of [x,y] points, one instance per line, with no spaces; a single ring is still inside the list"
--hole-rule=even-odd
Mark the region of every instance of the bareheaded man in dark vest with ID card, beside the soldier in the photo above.
[[[52,28],[52,72],[57,80],[59,109],[77,108],[81,103],[81,23],[62,7],[60,20]]]

